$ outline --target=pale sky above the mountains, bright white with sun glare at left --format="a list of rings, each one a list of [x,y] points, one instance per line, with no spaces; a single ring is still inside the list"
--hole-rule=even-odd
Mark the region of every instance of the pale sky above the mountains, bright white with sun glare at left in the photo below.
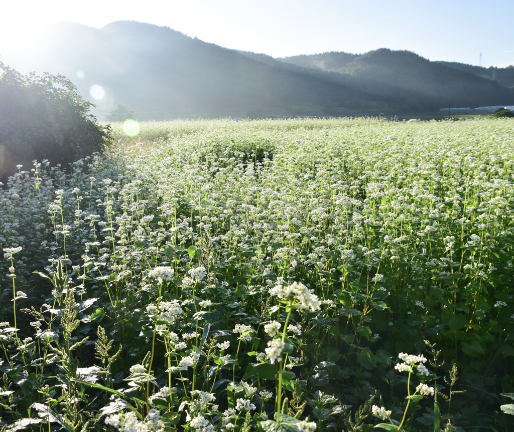
[[[284,57],[413,51],[429,60],[514,65],[514,0],[0,0],[0,55],[52,20],[167,26],[221,45]],[[29,30],[20,38],[12,35]],[[0,57],[1,58],[1,57]]]

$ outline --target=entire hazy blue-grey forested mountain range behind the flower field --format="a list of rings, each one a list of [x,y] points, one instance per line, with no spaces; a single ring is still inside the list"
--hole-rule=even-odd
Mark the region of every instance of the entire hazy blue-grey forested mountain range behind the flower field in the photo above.
[[[100,29],[62,23],[41,42],[27,49],[23,60],[2,60],[24,73],[66,75],[84,99],[98,105],[100,120],[117,104],[133,109],[140,120],[378,115],[449,104],[514,104],[514,90],[469,65],[430,62],[408,51],[276,59],[128,21]]]

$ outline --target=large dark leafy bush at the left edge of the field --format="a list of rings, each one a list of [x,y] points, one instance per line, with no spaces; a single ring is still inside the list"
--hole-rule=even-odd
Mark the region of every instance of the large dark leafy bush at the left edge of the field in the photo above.
[[[67,166],[103,152],[110,130],[89,113],[92,106],[62,75],[23,75],[0,62],[0,181],[23,165],[46,159]]]

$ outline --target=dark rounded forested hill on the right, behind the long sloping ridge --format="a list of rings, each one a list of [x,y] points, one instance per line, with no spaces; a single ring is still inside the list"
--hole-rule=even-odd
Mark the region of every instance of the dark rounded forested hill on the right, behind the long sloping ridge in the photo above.
[[[405,104],[416,111],[448,105],[502,105],[512,99],[512,90],[473,73],[472,69],[464,67],[467,65],[457,69],[442,62],[430,62],[410,51],[386,48],[355,56],[352,61],[347,61],[348,55],[340,54],[286,57],[283,61],[354,76],[360,88],[372,92],[378,99]],[[341,67],[336,69],[337,66]]]

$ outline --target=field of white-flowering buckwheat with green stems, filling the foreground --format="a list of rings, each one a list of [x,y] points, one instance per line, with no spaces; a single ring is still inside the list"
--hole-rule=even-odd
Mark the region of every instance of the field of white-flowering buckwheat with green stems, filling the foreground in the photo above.
[[[0,430],[512,430],[514,122],[140,128],[0,190]]]

